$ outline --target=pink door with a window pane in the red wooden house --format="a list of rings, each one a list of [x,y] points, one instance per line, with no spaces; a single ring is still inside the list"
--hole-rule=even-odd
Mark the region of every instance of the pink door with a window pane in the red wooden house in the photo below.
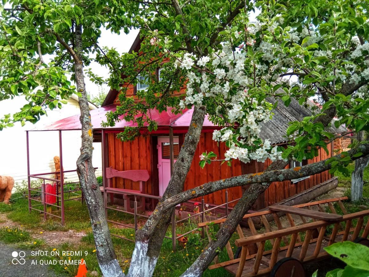
[[[173,138],[174,162],[179,153],[178,138]],[[170,144],[169,138],[158,138],[158,170],[159,170],[159,195],[162,196],[170,180]]]

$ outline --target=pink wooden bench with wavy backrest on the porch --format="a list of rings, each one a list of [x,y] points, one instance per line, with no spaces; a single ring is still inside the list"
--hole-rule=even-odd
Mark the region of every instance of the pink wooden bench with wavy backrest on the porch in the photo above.
[[[126,170],[126,171],[118,171],[115,170],[112,167],[106,168],[106,178],[108,179],[108,187],[113,188],[113,178],[119,177],[123,179],[129,179],[133,182],[139,182],[139,190],[136,189],[124,189],[124,188],[115,188],[115,190],[118,190],[120,193],[123,194],[124,199],[124,208],[127,212],[133,212],[134,208],[131,207],[130,204],[130,198],[133,198],[133,195],[124,194],[124,192],[130,193],[145,193],[145,188],[143,185],[143,182],[146,182],[149,178],[149,172],[147,170]],[[104,190],[103,187],[100,187],[102,191]],[[114,204],[114,194],[110,193],[110,204]],[[139,206],[137,206],[138,209],[145,210],[145,197],[139,197]]]

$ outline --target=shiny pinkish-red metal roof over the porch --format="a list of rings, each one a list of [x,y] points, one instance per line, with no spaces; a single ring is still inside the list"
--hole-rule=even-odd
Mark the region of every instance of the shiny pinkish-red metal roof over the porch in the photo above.
[[[105,107],[101,107],[99,109],[90,110],[91,114],[91,123],[93,129],[103,129],[101,127],[101,122],[106,121],[106,113],[114,112],[116,105],[108,105]],[[189,110],[185,110],[183,114],[174,114],[170,111],[171,109],[168,107],[167,111],[163,111],[159,113],[156,109],[151,109],[148,114],[151,115],[151,119],[158,123],[158,127],[188,127],[193,113],[193,108]],[[137,117],[141,116],[138,114]],[[42,127],[38,127],[33,129],[32,131],[51,131],[51,130],[80,130],[81,123],[79,121],[80,114],[76,114],[75,116],[66,117],[64,119],[60,119],[51,124],[44,125]],[[133,122],[127,122],[123,120],[123,116],[119,117],[121,121],[116,122],[114,127],[107,127],[104,129],[123,129],[125,127],[134,127],[137,124]],[[204,120],[204,127],[212,127],[215,125],[208,120],[206,116]]]

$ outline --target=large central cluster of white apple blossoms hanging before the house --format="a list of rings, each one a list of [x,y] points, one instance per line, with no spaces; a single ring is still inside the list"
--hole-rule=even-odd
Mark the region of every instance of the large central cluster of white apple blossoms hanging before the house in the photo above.
[[[266,60],[273,58],[272,48],[267,43],[260,49],[269,55]],[[245,62],[246,52],[241,49],[233,51],[230,42],[225,42],[222,49],[210,57],[197,59],[191,53],[184,54],[175,63],[175,67],[188,71],[186,97],[180,100],[180,107],[201,106],[209,99],[219,101],[218,108],[223,110],[220,113],[217,109],[218,116],[227,117],[228,123],[238,126],[235,129],[225,127],[213,133],[213,140],[227,143],[229,147],[225,160],[238,159],[248,163],[250,160],[281,159],[282,152],[277,147],[271,147],[269,140],[262,142],[259,138],[261,124],[272,116],[271,104],[259,101],[255,93],[250,93],[253,80],[245,70]],[[194,67],[196,70],[192,70]]]

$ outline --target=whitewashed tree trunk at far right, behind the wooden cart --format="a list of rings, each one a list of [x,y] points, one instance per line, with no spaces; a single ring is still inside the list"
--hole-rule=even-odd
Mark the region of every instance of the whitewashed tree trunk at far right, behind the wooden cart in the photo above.
[[[365,140],[365,132],[358,133],[358,141]],[[363,174],[364,169],[369,164],[369,156],[355,160],[355,169],[351,175],[351,201],[359,201],[363,198]]]

